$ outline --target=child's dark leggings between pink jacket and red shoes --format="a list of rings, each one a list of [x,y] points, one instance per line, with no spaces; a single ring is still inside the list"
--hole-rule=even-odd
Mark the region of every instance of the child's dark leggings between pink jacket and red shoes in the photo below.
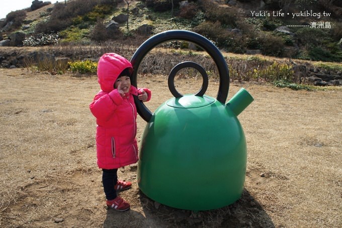
[[[107,200],[112,200],[116,198],[116,191],[114,189],[114,186],[118,182],[118,169],[113,170],[102,170],[102,183],[103,183],[103,189],[106,194]]]

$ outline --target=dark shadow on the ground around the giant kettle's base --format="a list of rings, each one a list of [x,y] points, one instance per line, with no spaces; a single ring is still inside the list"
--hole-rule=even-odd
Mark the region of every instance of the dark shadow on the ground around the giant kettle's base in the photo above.
[[[126,212],[108,210],[103,227],[275,227],[246,189],[231,205],[198,212],[159,204],[141,191],[139,199],[143,214],[134,208]]]

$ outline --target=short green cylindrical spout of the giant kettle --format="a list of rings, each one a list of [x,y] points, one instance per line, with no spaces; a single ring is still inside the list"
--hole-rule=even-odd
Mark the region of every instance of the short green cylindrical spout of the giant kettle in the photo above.
[[[253,97],[241,88],[227,103],[226,107],[230,108],[233,113],[238,116],[253,101]]]

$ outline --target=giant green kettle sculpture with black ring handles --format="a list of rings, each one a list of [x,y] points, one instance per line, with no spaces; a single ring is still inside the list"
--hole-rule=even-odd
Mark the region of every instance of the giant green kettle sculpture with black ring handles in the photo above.
[[[137,86],[144,56],[170,40],[189,41],[209,53],[219,71],[219,92],[217,99],[204,95],[206,71],[197,63],[182,62],[168,77],[175,98],[153,114],[135,98],[137,111],[147,122],[140,145],[139,188],[149,198],[180,209],[210,210],[232,204],[242,194],[247,161],[245,136],[236,116],[253,98],[242,88],[224,104],[229,90],[225,59],[207,38],[185,30],[154,35],[136,50],[131,59],[132,85]],[[202,74],[202,88],[195,95],[182,95],[175,89],[175,75],[184,67],[193,67]]]

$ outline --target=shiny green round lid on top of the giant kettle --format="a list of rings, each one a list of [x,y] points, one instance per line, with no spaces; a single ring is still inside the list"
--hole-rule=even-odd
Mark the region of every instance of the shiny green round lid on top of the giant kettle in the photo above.
[[[215,99],[208,96],[184,95],[179,98],[172,98],[166,101],[166,105],[174,108],[200,108],[210,105]]]

